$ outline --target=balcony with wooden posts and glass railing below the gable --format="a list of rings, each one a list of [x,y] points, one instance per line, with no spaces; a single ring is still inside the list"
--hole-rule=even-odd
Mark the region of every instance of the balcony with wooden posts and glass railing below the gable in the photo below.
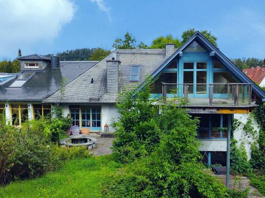
[[[246,83],[210,83],[176,84],[162,83],[162,96],[166,101],[179,97],[189,100],[192,107],[251,107],[251,84]]]

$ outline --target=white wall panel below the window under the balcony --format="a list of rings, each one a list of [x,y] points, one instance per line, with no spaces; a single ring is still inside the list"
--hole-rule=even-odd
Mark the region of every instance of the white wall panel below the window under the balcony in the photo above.
[[[226,152],[226,140],[203,140],[199,146],[200,151],[225,151]]]

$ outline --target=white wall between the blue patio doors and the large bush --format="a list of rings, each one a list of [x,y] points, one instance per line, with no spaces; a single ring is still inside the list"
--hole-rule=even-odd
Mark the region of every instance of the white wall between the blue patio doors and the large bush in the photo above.
[[[119,118],[119,114],[117,112],[117,108],[114,104],[102,104],[102,131],[104,131],[104,125],[107,124],[109,126],[109,132],[113,132],[113,128],[110,126],[111,118],[115,118],[117,121]]]

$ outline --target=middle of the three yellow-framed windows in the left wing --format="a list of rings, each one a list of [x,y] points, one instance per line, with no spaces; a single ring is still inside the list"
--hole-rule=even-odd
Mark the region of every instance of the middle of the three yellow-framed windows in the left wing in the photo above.
[[[20,126],[28,119],[28,105],[27,104],[13,104],[11,105],[11,124]]]

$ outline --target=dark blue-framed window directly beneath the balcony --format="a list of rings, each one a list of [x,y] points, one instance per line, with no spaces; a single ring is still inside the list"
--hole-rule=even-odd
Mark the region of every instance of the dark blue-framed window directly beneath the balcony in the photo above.
[[[227,114],[192,114],[198,117],[198,137],[202,139],[225,139],[227,137]]]

